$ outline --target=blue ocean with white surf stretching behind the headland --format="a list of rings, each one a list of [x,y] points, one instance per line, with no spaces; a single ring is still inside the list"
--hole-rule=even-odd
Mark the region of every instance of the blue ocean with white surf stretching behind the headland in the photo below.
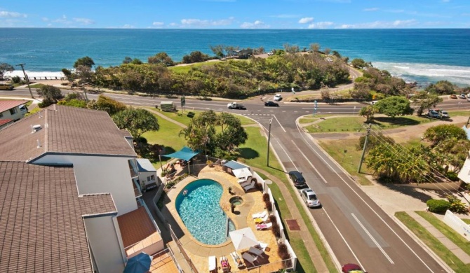
[[[28,76],[57,76],[76,59],[116,66],[128,56],[166,52],[174,61],[210,46],[232,45],[267,52],[283,45],[318,43],[349,60],[362,58],[379,69],[420,85],[449,80],[470,85],[470,29],[39,29],[0,28],[0,62],[25,64]],[[15,66],[13,75],[22,75]]]

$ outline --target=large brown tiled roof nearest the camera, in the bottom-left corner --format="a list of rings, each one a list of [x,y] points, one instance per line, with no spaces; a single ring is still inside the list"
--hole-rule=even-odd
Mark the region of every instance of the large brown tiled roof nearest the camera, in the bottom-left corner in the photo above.
[[[84,215],[116,213],[79,197],[72,167],[0,162],[0,272],[93,272]]]

